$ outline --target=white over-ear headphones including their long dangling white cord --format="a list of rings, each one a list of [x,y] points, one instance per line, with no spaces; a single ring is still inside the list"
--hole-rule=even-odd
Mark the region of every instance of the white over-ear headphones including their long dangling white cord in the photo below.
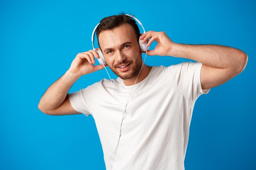
[[[125,15],[128,15],[128,14],[125,14]],[[128,16],[130,16],[130,17],[134,18],[135,20],[137,20],[137,22],[139,22],[139,24],[142,26],[141,22],[140,22],[137,18],[135,18],[135,17],[132,16],[132,15],[128,15]],[[99,23],[99,24],[100,24],[100,23]],[[93,50],[96,51],[96,52],[99,54],[99,58],[97,58],[97,60],[98,60],[99,63],[100,63],[101,65],[103,65],[104,68],[106,69],[105,64],[107,64],[107,62],[106,62],[106,60],[105,60],[105,58],[104,58],[104,56],[103,56],[102,51],[101,51],[101,50],[96,50],[96,49],[94,48],[94,35],[95,35],[95,30],[97,29],[97,26],[98,26],[99,24],[97,24],[97,25],[95,26],[95,28],[94,28],[94,30],[93,30],[93,32],[92,32],[92,47],[93,47]],[[142,26],[142,28],[143,28],[143,31],[144,31],[143,33],[146,33],[146,31],[145,31],[145,29],[144,29],[143,26]],[[142,44],[142,40],[139,39],[139,46],[140,46],[140,49],[141,49],[141,51],[146,52],[146,56],[147,56],[147,50],[149,49],[149,46],[147,46],[147,44],[148,44],[148,42],[145,42],[144,44]],[[145,62],[145,60],[146,60],[146,56],[145,56],[144,62]],[[142,66],[141,66],[141,69],[140,69],[140,71],[139,71],[139,74],[140,74],[140,72],[141,72],[141,70],[142,70],[142,68],[143,68],[144,62],[143,62],[143,64],[142,64]],[[107,69],[106,69],[106,71],[107,71]],[[108,73],[108,71],[107,71],[107,73]],[[110,75],[109,75],[109,74],[108,74],[108,76],[109,76],[109,78],[110,78]],[[137,79],[138,79],[138,77],[139,77],[139,75],[137,76]],[[136,83],[137,79],[135,80],[135,83]],[[114,95],[115,95],[111,78],[110,78],[110,81],[111,81],[113,93],[114,93]],[[132,89],[134,88],[135,83],[134,83],[134,85],[132,86]],[[132,90],[131,90],[131,92],[130,92],[130,95],[131,95],[131,93],[132,93]],[[128,102],[129,102],[130,95],[129,95],[129,97],[128,97],[126,106],[127,106]],[[115,95],[115,97],[117,97],[117,96]],[[119,97],[117,97],[117,98],[119,98]],[[120,99],[120,98],[119,98],[119,99]],[[125,113],[125,110],[126,110],[126,106],[125,106],[125,108],[124,108],[124,113]],[[121,137],[121,128],[122,128],[122,123],[123,123],[123,119],[124,119],[124,113],[123,113],[123,117],[122,117],[122,121],[121,121],[121,125],[120,125],[119,139],[120,139],[120,137]],[[119,139],[118,139],[118,142],[117,142],[117,146],[118,146],[118,144],[119,144]],[[115,150],[117,149],[117,146],[116,146]],[[115,150],[112,152],[111,157],[112,157],[113,153],[115,152]],[[111,157],[110,157],[109,169],[110,169],[110,166],[111,166]]]

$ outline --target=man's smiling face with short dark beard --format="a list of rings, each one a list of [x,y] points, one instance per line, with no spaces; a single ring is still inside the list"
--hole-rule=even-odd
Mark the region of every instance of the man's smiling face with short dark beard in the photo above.
[[[113,30],[99,34],[99,44],[110,69],[121,79],[130,79],[139,74],[141,50],[134,29],[130,24],[122,24]],[[125,68],[118,66],[127,65]]]

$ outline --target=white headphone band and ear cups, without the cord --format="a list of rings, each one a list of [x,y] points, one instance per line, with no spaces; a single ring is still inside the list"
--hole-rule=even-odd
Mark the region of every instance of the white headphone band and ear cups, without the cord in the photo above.
[[[125,15],[128,15],[128,14],[125,14]],[[143,25],[141,24],[141,22],[140,22],[137,18],[135,18],[134,16],[132,16],[132,15],[128,15],[128,16],[130,16],[130,17],[134,18],[135,20],[137,20],[137,22],[139,22],[139,24],[140,24],[140,25],[142,26],[142,28],[143,28],[143,31],[144,31],[143,33],[145,33],[145,29],[144,29]],[[99,23],[99,24],[100,24],[100,23]],[[106,62],[106,60],[105,60],[105,58],[104,58],[104,55],[103,55],[102,51],[101,51],[100,49],[99,49],[99,50],[96,50],[95,47],[94,47],[94,35],[95,35],[96,29],[97,29],[97,27],[98,27],[99,24],[97,24],[97,25],[95,26],[95,28],[94,28],[94,30],[93,30],[93,32],[92,32],[92,47],[93,47],[93,50],[96,51],[96,52],[98,53],[98,55],[99,55],[99,58],[97,58],[98,62],[99,62],[101,65],[105,65],[105,64],[107,64],[107,62]],[[148,42],[142,44],[142,40],[139,39],[139,47],[140,47],[141,51],[144,51],[144,52],[145,52],[145,51],[148,50],[147,44],[148,44]]]

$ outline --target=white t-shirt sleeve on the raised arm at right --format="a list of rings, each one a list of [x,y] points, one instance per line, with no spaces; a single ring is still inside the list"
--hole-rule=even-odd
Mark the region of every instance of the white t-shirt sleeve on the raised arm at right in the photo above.
[[[201,68],[202,63],[200,62],[182,62],[169,66],[171,76],[181,93],[191,102],[200,95],[209,93],[211,89],[202,89],[200,79]]]

